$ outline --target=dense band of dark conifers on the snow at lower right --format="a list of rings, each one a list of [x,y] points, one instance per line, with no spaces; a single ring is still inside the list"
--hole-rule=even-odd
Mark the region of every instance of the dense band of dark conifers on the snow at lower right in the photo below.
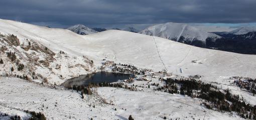
[[[220,111],[233,111],[244,119],[256,120],[256,106],[246,103],[239,95],[232,95],[229,89],[221,92],[216,86],[194,79],[177,80],[167,78],[165,81],[166,85],[158,87],[156,90],[200,98],[206,101],[201,104],[204,104],[208,109],[214,108]],[[180,86],[180,92],[178,91],[177,85]]]

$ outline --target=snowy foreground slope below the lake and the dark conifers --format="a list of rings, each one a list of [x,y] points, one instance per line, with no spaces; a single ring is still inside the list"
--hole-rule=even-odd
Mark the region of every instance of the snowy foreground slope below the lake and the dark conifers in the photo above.
[[[98,88],[98,95],[81,95],[61,88],[51,89],[18,78],[0,78],[0,113],[26,114],[18,110],[42,112],[48,120],[242,120],[200,106],[200,100],[164,92],[135,92],[118,88]],[[95,105],[95,108],[93,108]],[[15,109],[12,109],[15,108]],[[116,109],[116,111],[114,110]],[[206,112],[206,114],[204,113]],[[187,119],[186,119],[187,118]],[[1,118],[0,118],[1,119]]]

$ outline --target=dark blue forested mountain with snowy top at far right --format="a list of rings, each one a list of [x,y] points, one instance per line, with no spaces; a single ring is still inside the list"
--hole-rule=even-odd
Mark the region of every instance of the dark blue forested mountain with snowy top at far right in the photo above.
[[[242,53],[256,54],[256,27],[241,27],[230,32],[215,32],[221,36],[215,42],[208,42],[207,48]]]

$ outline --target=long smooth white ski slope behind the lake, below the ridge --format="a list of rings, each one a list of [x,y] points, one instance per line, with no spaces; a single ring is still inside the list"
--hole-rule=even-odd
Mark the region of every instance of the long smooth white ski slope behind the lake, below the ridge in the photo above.
[[[4,19],[0,19],[0,32],[17,35],[21,43],[29,38],[56,52],[62,50],[73,56],[85,55],[97,66],[107,58],[116,63],[154,71],[166,67],[168,72],[184,76],[201,75],[209,79],[223,76],[256,77],[255,55],[204,49],[160,37],[154,37],[154,40],[152,36],[139,33],[107,30],[84,36],[65,29]]]

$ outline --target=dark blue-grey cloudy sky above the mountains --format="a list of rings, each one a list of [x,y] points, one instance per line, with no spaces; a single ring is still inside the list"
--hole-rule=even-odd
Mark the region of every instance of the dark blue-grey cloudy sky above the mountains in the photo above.
[[[0,0],[0,18],[41,26],[138,29],[179,22],[206,31],[256,26],[256,0]]]

